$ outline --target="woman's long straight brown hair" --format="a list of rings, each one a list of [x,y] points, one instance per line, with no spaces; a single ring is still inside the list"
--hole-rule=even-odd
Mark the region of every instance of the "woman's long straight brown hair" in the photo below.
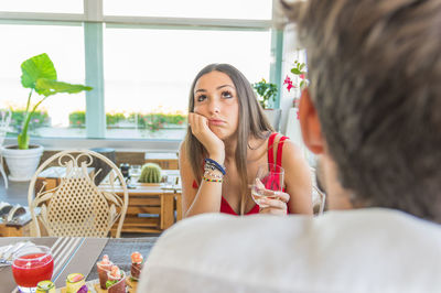
[[[248,140],[250,138],[267,139],[269,133],[273,132],[271,124],[268,122],[260,104],[257,101],[256,94],[248,79],[234,66],[229,64],[211,64],[205,66],[194,78],[190,89],[189,112],[194,112],[194,87],[196,82],[205,74],[211,72],[220,72],[232,78],[236,87],[236,95],[239,101],[239,122],[237,130],[237,148],[236,148],[236,166],[240,176],[240,215],[245,209],[245,196],[248,192],[248,174],[247,174],[247,151]],[[193,135],[191,128],[184,140],[186,156],[192,165],[193,174],[196,181],[201,182],[203,176],[203,161],[207,158],[207,151],[202,143]],[[228,170],[227,170],[228,172]]]

